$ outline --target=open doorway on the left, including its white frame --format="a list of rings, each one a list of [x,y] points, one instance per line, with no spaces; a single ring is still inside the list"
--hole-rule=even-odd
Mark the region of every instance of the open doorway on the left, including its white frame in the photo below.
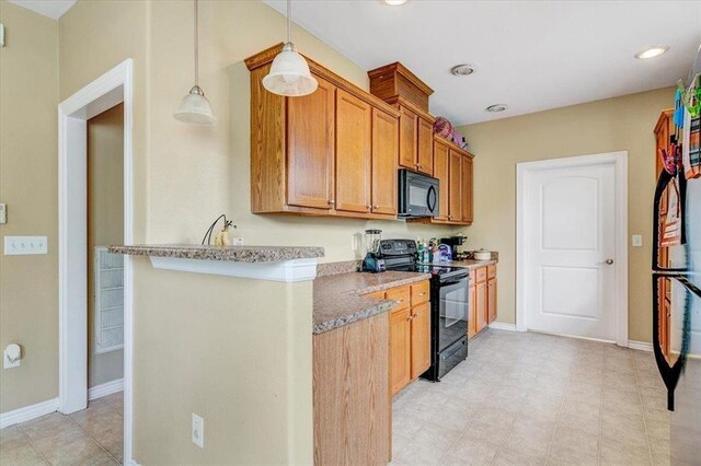
[[[100,166],[94,156],[96,153],[90,153],[95,138],[105,139],[104,135],[96,136],[95,127],[91,128],[91,125],[105,119],[111,124],[110,138],[119,142],[118,148],[112,148],[112,153],[120,151],[118,163],[115,164],[115,160],[101,161],[103,165],[112,162],[108,167]],[[124,463],[129,464],[133,431],[133,265],[125,256],[119,258],[119,267],[116,267],[115,260],[103,257],[101,249],[94,246],[104,246],[97,243],[131,244],[134,241],[133,60],[125,60],[64,101],[58,107],[58,126],[59,411],[71,415],[85,409],[89,399],[113,395],[110,399],[114,401],[115,415],[123,404],[120,456]],[[115,170],[120,172],[116,177],[120,186],[103,199],[107,182],[103,179],[100,187],[94,185],[101,179],[99,172]],[[96,193],[101,196],[95,197]],[[95,202],[97,209],[93,209]],[[104,213],[114,218],[119,210],[123,213],[116,224],[101,217]],[[100,231],[103,226],[106,233]],[[115,232],[115,229],[120,231]],[[96,279],[99,276],[102,282]],[[93,293],[95,296],[101,294],[102,304],[94,302]],[[96,317],[89,317],[91,313]],[[122,354],[116,356],[116,351]],[[101,358],[107,353],[114,354]],[[110,364],[105,365],[105,361]],[[101,365],[111,366],[106,369],[111,374],[101,373],[97,369]],[[115,377],[115,374],[122,377]],[[115,401],[114,394],[120,391],[123,401]]]

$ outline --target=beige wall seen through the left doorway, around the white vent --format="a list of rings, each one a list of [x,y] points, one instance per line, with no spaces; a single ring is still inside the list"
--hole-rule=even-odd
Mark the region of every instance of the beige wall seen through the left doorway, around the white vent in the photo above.
[[[95,246],[124,243],[124,105],[88,120],[88,386],[124,376],[124,351],[95,352]]]

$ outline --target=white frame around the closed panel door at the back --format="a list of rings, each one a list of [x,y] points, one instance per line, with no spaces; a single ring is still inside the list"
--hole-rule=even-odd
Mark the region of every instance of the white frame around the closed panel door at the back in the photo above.
[[[526,176],[529,173],[588,165],[613,165],[616,170],[616,336],[628,347],[628,151],[522,162],[516,164],[516,330],[528,330],[525,289]]]

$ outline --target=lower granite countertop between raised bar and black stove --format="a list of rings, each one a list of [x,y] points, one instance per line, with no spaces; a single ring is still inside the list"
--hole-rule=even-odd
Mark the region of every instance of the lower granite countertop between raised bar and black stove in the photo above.
[[[397,304],[363,294],[428,280],[430,273],[386,271],[350,272],[318,277],[314,280],[313,334],[323,334],[344,325],[387,312]]]

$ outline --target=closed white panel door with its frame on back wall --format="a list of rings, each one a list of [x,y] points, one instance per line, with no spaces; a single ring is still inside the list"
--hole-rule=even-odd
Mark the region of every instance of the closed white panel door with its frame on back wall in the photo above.
[[[628,152],[516,172],[516,329],[627,347]]]

